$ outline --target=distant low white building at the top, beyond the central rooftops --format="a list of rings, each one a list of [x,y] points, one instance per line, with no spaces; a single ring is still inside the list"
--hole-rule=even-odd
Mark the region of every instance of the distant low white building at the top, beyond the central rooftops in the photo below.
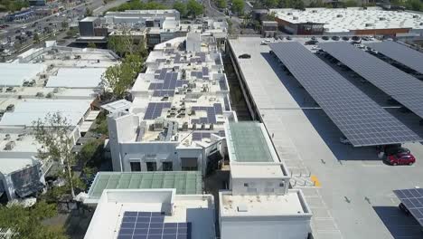
[[[104,15],[106,24],[127,24],[146,27],[161,27],[166,18],[174,18],[179,23],[180,14],[174,9],[165,10],[127,10],[108,12]]]

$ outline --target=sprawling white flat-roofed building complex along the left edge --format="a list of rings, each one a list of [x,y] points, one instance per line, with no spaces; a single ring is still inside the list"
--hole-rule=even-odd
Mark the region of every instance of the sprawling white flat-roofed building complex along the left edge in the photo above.
[[[42,146],[33,138],[33,121],[61,112],[76,143],[99,115],[91,103],[101,88],[101,74],[116,63],[108,51],[52,44],[0,65],[14,72],[0,79],[0,196],[5,196],[0,200],[38,192],[52,166],[36,158]]]

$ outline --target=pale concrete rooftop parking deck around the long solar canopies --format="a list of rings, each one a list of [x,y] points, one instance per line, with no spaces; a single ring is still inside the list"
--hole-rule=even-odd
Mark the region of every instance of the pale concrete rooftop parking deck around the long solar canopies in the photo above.
[[[289,169],[295,172],[305,167],[303,171],[318,178],[319,187],[296,186],[303,188],[314,212],[315,238],[421,238],[419,225],[400,212],[400,201],[392,190],[423,185],[423,146],[404,145],[417,163],[393,167],[378,158],[374,147],[343,145],[339,141],[341,131],[298,81],[287,76],[268,53],[268,46],[261,45],[262,40],[239,38],[230,43],[235,55],[251,55],[250,59],[240,60],[241,71],[268,133],[275,134],[276,148],[290,145],[295,148],[290,150],[296,150],[298,156],[288,159]],[[259,67],[250,70],[251,65]],[[351,73],[342,73],[372,100],[388,106],[381,91],[357,81]],[[423,127],[416,116],[398,109],[389,111],[422,136]]]

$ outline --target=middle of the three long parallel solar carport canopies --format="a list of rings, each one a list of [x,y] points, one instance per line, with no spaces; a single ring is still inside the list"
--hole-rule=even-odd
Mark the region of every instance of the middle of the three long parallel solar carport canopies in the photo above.
[[[423,118],[423,82],[349,43],[319,43],[362,78]],[[422,62],[423,63],[423,62]]]

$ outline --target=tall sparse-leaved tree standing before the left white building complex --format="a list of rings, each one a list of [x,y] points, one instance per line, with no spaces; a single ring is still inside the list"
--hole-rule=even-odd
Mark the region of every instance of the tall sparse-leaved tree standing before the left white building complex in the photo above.
[[[38,158],[45,161],[56,161],[64,166],[64,177],[75,198],[73,186],[72,165],[75,162],[71,147],[73,146],[73,134],[71,122],[61,115],[61,112],[48,113],[44,119],[33,122],[33,134],[35,139],[42,145],[38,149]]]

